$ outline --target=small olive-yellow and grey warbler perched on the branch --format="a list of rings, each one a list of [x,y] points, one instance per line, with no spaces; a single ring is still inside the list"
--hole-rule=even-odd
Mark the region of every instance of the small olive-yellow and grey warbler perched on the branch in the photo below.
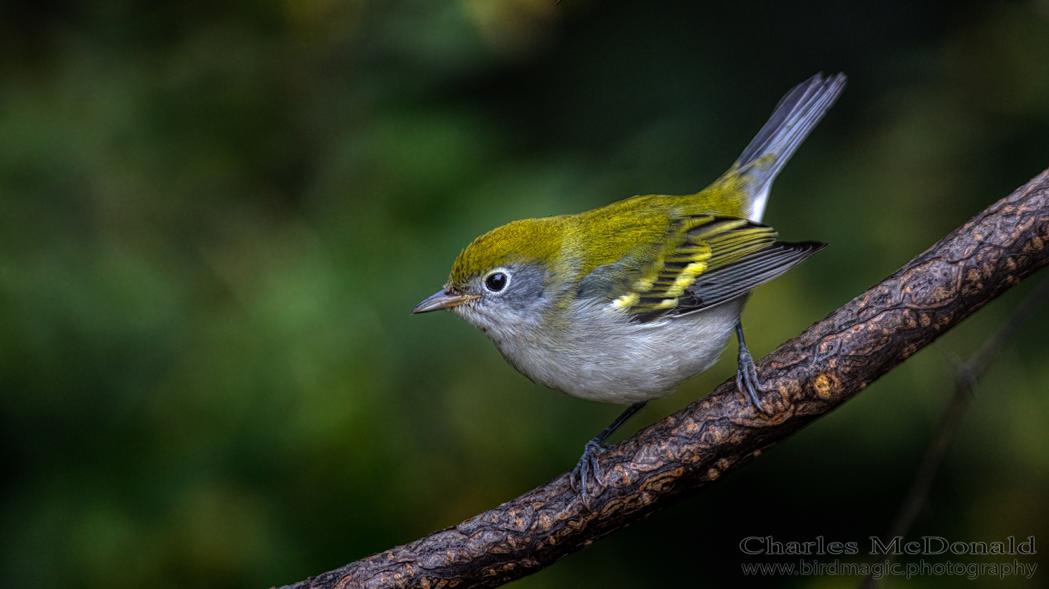
[[[710,368],[733,331],[736,386],[768,413],[740,314],[752,288],[826,244],[776,241],[762,215],[772,180],[844,83],[841,73],[816,74],[794,87],[702,192],[635,196],[488,232],[458,255],[445,287],[412,310],[452,309],[536,383],[631,403],[586,443],[572,472],[587,506],[605,487],[597,460],[604,440],[649,399]]]

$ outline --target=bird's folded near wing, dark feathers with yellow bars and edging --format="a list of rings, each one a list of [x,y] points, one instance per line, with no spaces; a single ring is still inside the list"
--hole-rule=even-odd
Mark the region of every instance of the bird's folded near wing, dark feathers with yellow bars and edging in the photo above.
[[[715,215],[671,219],[661,252],[628,272],[612,304],[648,322],[724,303],[798,264],[825,244],[785,243],[772,227]],[[619,276],[624,276],[620,274]],[[624,277],[625,277],[624,276]],[[625,290],[625,291],[624,291]]]

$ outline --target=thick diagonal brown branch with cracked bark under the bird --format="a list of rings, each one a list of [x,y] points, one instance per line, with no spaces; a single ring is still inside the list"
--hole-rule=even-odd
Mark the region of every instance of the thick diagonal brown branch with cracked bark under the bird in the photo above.
[[[535,572],[745,464],[1049,264],[1049,171],[757,362],[772,416],[734,378],[613,446],[593,511],[568,473],[456,526],[285,589],[494,587]]]

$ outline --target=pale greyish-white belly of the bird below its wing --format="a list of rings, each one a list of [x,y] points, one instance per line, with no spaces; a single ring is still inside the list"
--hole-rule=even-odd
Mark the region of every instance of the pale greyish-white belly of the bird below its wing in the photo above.
[[[637,402],[667,395],[713,366],[745,301],[643,324],[580,303],[571,321],[548,329],[556,334],[489,334],[510,364],[540,385],[591,400]]]

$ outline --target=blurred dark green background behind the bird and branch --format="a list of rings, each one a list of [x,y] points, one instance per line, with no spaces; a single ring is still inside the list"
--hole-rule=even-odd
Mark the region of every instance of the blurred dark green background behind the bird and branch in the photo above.
[[[568,470],[621,408],[532,385],[451,313],[408,311],[498,224],[698,191],[816,71],[850,86],[766,222],[831,246],[757,289],[755,356],[1049,165],[1046,0],[9,1],[0,52],[12,588],[282,585]],[[951,357],[1037,280],[516,586],[855,586],[745,577],[762,559],[738,543],[884,537]],[[914,536],[1049,543],[1047,324],[985,375]],[[964,583],[1045,586],[1043,568]]]

